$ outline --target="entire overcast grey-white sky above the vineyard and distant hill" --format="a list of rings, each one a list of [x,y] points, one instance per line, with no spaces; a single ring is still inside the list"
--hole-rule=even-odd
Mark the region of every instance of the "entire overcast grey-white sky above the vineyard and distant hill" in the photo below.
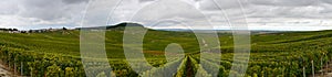
[[[0,28],[332,30],[332,0],[1,0]]]

